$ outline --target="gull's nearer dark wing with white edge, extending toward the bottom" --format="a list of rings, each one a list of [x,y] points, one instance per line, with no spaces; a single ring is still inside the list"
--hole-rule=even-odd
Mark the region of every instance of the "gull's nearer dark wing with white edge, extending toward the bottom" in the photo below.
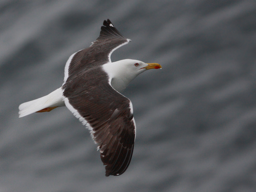
[[[110,86],[100,67],[88,70],[62,88],[68,109],[91,130],[106,165],[106,176],[124,173],[135,140],[131,101]]]

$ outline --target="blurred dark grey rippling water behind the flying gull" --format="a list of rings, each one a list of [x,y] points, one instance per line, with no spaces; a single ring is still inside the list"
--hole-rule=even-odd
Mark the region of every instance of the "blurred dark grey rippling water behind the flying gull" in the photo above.
[[[137,136],[118,177],[67,108],[18,118],[108,18],[132,39],[112,61],[163,67],[123,93]],[[255,1],[1,1],[0,191],[255,191],[255,18]]]

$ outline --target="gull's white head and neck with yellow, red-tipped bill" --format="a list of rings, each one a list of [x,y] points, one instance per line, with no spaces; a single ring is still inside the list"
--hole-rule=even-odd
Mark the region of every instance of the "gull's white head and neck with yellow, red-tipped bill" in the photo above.
[[[118,92],[122,92],[127,85],[140,73],[148,69],[162,68],[158,63],[144,63],[139,60],[125,59],[102,66],[108,73],[111,86]]]

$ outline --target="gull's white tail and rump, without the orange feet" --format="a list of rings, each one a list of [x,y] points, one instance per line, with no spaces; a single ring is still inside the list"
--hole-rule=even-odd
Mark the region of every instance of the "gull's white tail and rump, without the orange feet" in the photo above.
[[[65,103],[63,101],[64,96],[62,95],[62,93],[63,89],[60,87],[59,89],[56,89],[55,91],[51,92],[49,95],[20,104],[19,117],[27,116],[31,113],[35,113],[48,107],[65,106]]]

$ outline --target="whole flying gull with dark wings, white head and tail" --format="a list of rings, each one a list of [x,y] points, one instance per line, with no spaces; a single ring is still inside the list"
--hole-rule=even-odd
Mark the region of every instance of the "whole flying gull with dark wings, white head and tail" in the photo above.
[[[66,106],[90,130],[106,176],[125,172],[134,147],[132,102],[120,92],[140,73],[162,68],[131,59],[111,62],[112,52],[130,41],[110,20],[104,20],[97,40],[69,57],[62,86],[19,106],[19,117]]]

